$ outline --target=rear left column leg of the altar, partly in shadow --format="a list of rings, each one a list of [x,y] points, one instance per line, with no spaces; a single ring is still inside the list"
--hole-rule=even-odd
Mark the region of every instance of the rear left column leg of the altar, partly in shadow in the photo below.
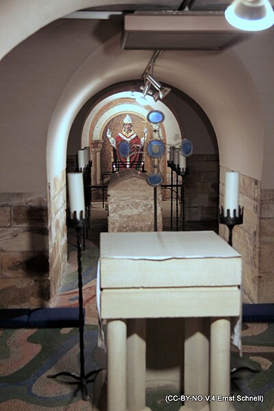
[[[127,410],[149,411],[145,406],[146,320],[127,320]]]

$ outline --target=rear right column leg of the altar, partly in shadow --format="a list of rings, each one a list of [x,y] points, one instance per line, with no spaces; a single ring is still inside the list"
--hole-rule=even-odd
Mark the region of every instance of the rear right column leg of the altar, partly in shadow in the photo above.
[[[184,395],[197,395],[198,401],[185,401],[181,410],[203,410],[209,393],[209,320],[185,318],[184,329]]]

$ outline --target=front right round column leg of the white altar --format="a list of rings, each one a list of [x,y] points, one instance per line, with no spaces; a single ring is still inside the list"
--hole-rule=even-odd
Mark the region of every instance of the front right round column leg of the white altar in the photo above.
[[[210,396],[230,395],[230,320],[212,318],[210,327]],[[228,411],[229,401],[211,401],[210,411]]]

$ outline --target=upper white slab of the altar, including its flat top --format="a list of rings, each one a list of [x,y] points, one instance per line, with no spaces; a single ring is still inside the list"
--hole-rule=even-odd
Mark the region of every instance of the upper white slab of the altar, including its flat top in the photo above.
[[[101,289],[235,286],[240,254],[214,231],[101,233]]]

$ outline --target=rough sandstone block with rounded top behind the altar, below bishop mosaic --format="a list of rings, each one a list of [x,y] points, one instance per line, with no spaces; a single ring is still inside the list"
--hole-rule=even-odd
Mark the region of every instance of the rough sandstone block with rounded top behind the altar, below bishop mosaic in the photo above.
[[[110,177],[108,231],[154,231],[153,187],[146,174],[125,169]],[[162,193],[158,187],[158,231],[162,231]]]

